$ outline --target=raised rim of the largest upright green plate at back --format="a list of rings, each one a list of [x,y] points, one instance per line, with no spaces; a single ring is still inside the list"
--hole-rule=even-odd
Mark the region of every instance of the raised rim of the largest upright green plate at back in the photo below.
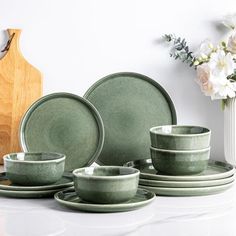
[[[151,79],[150,77],[143,75],[141,73],[137,73],[137,72],[116,72],[116,73],[112,73],[109,75],[106,75],[104,77],[102,77],[101,79],[97,80],[95,83],[93,83],[88,89],[87,91],[84,93],[83,97],[85,99],[89,98],[89,95],[96,89],[98,88],[101,84],[107,82],[108,80],[111,79],[117,79],[119,78],[119,76],[131,76],[131,77],[135,77],[136,79],[141,79],[145,82],[150,83],[151,85],[153,85],[154,87],[156,87],[161,94],[165,97],[170,111],[171,111],[171,117],[172,117],[172,125],[177,124],[177,113],[176,113],[176,109],[174,106],[174,103],[170,97],[170,95],[167,93],[167,91],[164,89],[164,87],[162,87],[157,81],[155,81],[154,79]],[[104,164],[101,160],[98,159],[96,160],[96,163],[99,165],[106,165]]]

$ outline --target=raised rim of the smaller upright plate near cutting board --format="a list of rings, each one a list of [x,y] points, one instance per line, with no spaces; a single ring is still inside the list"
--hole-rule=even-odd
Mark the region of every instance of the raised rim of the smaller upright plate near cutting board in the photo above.
[[[25,128],[26,128],[26,124],[29,120],[29,117],[37,109],[37,107],[39,107],[41,104],[43,104],[51,99],[55,99],[55,98],[75,99],[75,100],[79,101],[80,103],[83,103],[91,111],[91,114],[94,116],[97,126],[98,126],[98,130],[99,130],[99,140],[98,140],[98,145],[97,145],[96,151],[94,152],[93,156],[90,157],[90,159],[85,164],[85,166],[91,165],[99,157],[99,155],[102,151],[103,145],[104,145],[105,128],[104,128],[103,120],[102,120],[99,112],[95,108],[95,106],[90,101],[88,101],[84,97],[80,97],[76,94],[72,94],[72,93],[68,93],[68,92],[56,92],[56,93],[47,94],[47,95],[39,98],[37,101],[35,101],[33,104],[31,104],[31,106],[27,109],[27,111],[25,112],[25,114],[23,115],[23,117],[20,121],[20,126],[19,126],[20,128],[19,128],[19,135],[18,136],[19,136],[20,146],[21,146],[22,150],[24,152],[29,152],[29,147],[26,145],[26,139],[25,139],[25,133],[24,133]],[[83,166],[81,166],[81,167],[83,167]],[[80,167],[76,167],[76,168],[80,168]],[[67,171],[67,170],[65,169],[65,171]]]

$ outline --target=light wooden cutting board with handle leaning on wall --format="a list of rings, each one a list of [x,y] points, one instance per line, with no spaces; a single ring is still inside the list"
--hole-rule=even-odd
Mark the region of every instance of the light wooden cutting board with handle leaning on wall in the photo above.
[[[42,96],[42,75],[19,49],[21,30],[7,31],[12,40],[0,59],[0,164],[3,155],[21,150],[18,138],[21,118]]]

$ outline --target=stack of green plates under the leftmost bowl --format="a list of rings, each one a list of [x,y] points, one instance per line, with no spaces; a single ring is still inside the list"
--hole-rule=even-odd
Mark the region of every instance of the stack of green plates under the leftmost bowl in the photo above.
[[[13,184],[5,172],[0,173],[0,196],[14,198],[41,198],[52,197],[55,193],[73,186],[73,180],[62,177],[59,181],[50,185],[22,186]]]

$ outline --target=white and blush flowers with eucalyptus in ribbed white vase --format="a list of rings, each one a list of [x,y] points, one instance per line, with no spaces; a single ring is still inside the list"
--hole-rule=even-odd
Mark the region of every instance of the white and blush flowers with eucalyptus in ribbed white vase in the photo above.
[[[225,159],[236,166],[236,14],[226,16],[222,23],[230,29],[230,36],[217,45],[206,39],[195,52],[185,39],[173,34],[166,34],[164,39],[172,44],[171,57],[196,69],[196,82],[202,92],[212,100],[221,99],[225,108]]]

